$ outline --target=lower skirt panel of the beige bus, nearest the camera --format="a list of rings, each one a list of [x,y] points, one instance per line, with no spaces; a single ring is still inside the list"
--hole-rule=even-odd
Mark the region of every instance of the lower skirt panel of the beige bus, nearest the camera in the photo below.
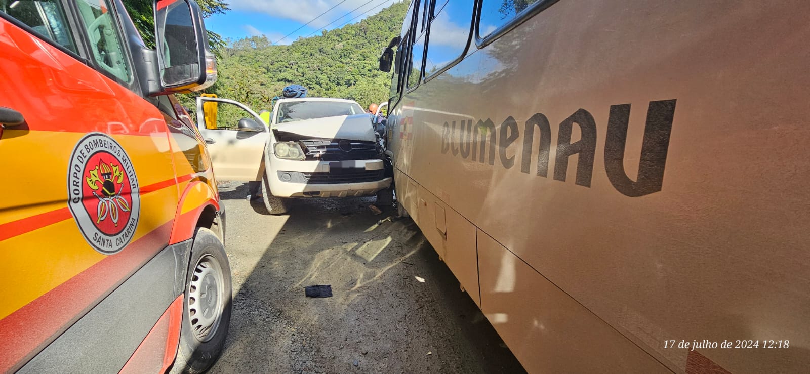
[[[669,372],[492,237],[477,236],[482,311],[527,372]]]

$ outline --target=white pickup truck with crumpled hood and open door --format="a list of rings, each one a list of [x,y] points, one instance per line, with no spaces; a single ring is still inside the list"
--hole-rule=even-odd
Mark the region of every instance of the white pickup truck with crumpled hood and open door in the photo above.
[[[272,215],[288,210],[288,198],[390,194],[393,178],[386,172],[380,134],[356,101],[280,99],[272,113],[260,116],[234,100],[197,100],[198,128],[216,178],[262,181]]]

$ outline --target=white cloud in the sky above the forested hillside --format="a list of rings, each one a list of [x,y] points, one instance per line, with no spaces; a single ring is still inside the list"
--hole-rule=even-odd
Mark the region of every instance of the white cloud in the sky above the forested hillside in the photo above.
[[[339,6],[336,6],[335,9],[332,9],[325,15],[322,15],[321,18],[316,19],[313,23],[309,23],[307,27],[323,28],[328,23],[335,21],[334,23],[329,24],[329,28],[335,28],[344,22],[347,22],[349,19],[354,18],[356,15],[360,15],[364,11],[368,11],[369,9],[373,8],[372,11],[369,11],[369,13],[363,15],[362,18],[377,14],[378,11],[382,11],[383,8],[390,6],[393,3],[386,2],[385,5],[375,8],[374,6],[380,5],[383,0],[374,0],[364,6],[361,6],[368,1],[369,0],[346,0]],[[315,17],[318,17],[318,15],[328,10],[332,6],[335,6],[335,4],[338,4],[339,2],[340,0],[229,0],[228,6],[234,11],[259,12],[278,18],[291,19],[303,24],[309,22]],[[349,11],[352,11],[358,6],[360,6],[359,9],[353,11],[351,15],[346,15]],[[342,17],[342,19],[335,20],[340,17]],[[360,19],[356,19],[354,22],[359,20]],[[295,28],[292,30],[295,30]],[[289,32],[292,32],[292,30],[289,30]],[[301,31],[297,32],[296,34],[301,34],[304,32],[304,30],[305,29],[301,29]],[[309,32],[307,32],[307,34],[309,34]],[[301,35],[293,35],[290,37],[295,40],[295,38],[298,36]]]

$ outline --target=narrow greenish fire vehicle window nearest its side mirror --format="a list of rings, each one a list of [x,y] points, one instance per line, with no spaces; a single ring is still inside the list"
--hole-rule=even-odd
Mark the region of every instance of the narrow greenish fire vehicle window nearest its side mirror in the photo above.
[[[129,83],[130,65],[107,1],[79,0],[76,5],[79,6],[79,14],[84,21],[96,65],[102,72],[112,74],[111,78]]]

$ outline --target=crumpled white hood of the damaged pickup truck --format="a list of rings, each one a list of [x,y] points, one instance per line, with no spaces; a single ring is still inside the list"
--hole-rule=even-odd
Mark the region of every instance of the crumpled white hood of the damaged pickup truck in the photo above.
[[[377,141],[371,124],[371,117],[368,114],[281,123],[275,125],[273,130],[279,133],[301,135],[306,138]]]

